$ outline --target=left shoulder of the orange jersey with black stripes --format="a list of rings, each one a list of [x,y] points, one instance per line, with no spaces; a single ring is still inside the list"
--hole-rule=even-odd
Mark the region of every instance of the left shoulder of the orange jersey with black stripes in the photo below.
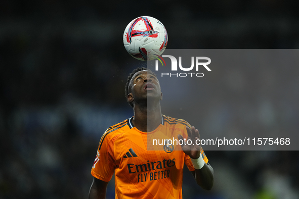
[[[130,119],[123,120],[122,122],[119,122],[115,125],[110,126],[107,128],[107,130],[104,132],[104,134],[101,137],[100,143],[99,143],[99,150],[101,149],[101,146],[104,142],[108,143],[111,140],[117,139],[118,136],[125,133],[126,131],[130,130]]]

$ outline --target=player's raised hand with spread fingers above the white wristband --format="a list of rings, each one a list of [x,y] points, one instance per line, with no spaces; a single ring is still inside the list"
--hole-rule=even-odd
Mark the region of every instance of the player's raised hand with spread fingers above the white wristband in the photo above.
[[[189,127],[186,126],[187,129],[187,133],[188,133],[188,138],[186,139],[186,144],[184,143],[184,139],[182,135],[178,135],[179,140],[183,140],[183,144],[182,146],[182,150],[183,152],[190,156],[190,158],[192,159],[197,159],[200,156],[200,150],[201,150],[201,144],[200,144],[200,136],[199,136],[199,132],[197,129],[195,129],[194,126],[191,127],[191,129]],[[188,140],[191,140],[192,143],[189,145]],[[197,143],[199,143],[199,145],[196,144],[196,140]],[[190,141],[189,141],[190,143]]]

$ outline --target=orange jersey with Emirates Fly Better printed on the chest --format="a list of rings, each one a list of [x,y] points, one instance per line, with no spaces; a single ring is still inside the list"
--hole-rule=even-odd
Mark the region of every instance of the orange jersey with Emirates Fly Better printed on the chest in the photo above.
[[[162,115],[162,122],[152,132],[139,131],[132,118],[109,127],[103,134],[92,175],[110,181],[115,172],[116,198],[182,198],[184,163],[194,171],[190,157],[174,144],[164,150],[149,151],[148,136],[187,134],[185,120]],[[154,146],[153,146],[154,147]],[[207,163],[204,152],[202,157]],[[194,181],[195,183],[195,181]]]

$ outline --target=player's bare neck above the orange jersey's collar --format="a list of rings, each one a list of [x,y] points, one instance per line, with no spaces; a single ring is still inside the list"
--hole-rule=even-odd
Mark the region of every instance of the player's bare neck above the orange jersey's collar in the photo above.
[[[134,126],[142,132],[155,130],[162,121],[161,106],[157,103],[155,106],[134,105]]]

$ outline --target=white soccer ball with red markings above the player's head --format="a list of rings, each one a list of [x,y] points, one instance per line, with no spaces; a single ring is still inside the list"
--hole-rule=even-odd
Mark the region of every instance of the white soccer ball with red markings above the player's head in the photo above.
[[[138,60],[154,60],[160,56],[167,45],[168,37],[163,24],[148,16],[131,21],[123,33],[126,51]]]

